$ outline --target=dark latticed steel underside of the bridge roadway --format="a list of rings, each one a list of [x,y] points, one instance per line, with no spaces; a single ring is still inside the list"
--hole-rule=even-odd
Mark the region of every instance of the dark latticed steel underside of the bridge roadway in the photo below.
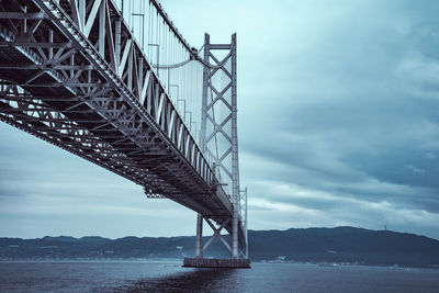
[[[14,7],[11,3],[15,2],[2,1],[0,9],[13,11]],[[29,5],[27,12],[33,10],[40,12],[37,5],[30,4],[31,1],[25,2]],[[8,3],[11,5],[8,5]],[[38,105],[43,104],[47,111],[60,113],[65,121],[69,121],[77,128],[85,129],[82,134],[95,139],[97,145],[111,149],[109,154],[112,158],[105,159],[101,156],[102,151],[99,149],[78,144],[75,136],[64,135],[59,129],[50,129],[52,125],[46,123],[43,117],[33,116],[29,109],[23,108],[20,102],[8,101],[9,95],[7,97],[4,93],[0,95],[2,121],[123,176],[137,184],[147,189],[155,189],[154,191],[158,194],[167,194],[166,196],[172,201],[201,213],[218,224],[232,217],[232,203],[223,189],[203,182],[178,148],[160,134],[160,127],[153,120],[145,120],[142,123],[142,134],[149,137],[149,145],[142,146],[135,139],[132,139],[126,129],[121,128],[108,115],[97,109],[95,102],[85,100],[82,95],[76,93],[77,88],[75,86],[69,86],[69,82],[83,81],[69,80],[56,69],[48,68],[42,72],[41,68],[32,68],[32,66],[42,65],[41,60],[37,59],[41,52],[36,48],[4,45],[5,42],[14,41],[9,40],[8,36],[8,34],[13,34],[12,22],[14,21],[0,20],[0,41],[3,43],[0,45],[0,83],[15,84],[23,89],[24,94],[27,95],[20,98],[24,102],[23,104],[29,105],[29,101],[38,100]],[[44,20],[38,26],[42,33],[49,29],[58,30],[52,20]],[[66,34],[66,31],[57,31],[54,35],[54,42],[72,42],[79,46],[72,36]],[[69,65],[69,63],[70,60],[66,59],[60,65]],[[136,109],[127,101],[128,98],[124,97],[113,81],[105,76],[93,56],[80,50],[79,54],[75,55],[75,64],[87,65],[92,68],[90,74],[93,82],[105,84],[108,91],[104,95],[117,103],[117,109],[137,114]],[[33,79],[35,76],[37,78]],[[29,82],[29,80],[32,81]],[[138,114],[138,116],[142,115]],[[97,127],[99,125],[102,126]],[[138,151],[136,153],[136,150]],[[117,164],[114,162],[115,157]],[[133,169],[133,166],[135,169]],[[229,233],[232,233],[230,222],[225,226]],[[245,240],[240,223],[239,227],[239,243],[243,244]]]

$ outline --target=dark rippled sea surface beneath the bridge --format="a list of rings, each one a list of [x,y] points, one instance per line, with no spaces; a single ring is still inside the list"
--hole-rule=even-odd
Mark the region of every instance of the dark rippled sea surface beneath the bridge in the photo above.
[[[0,292],[439,292],[439,270],[305,263],[181,268],[181,261],[2,261]]]

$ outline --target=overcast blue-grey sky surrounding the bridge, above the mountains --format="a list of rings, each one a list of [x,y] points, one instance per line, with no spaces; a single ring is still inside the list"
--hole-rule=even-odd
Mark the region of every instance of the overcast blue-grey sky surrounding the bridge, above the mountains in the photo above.
[[[161,1],[194,46],[238,37],[249,227],[439,238],[437,1]],[[193,235],[195,214],[0,124],[0,236]]]

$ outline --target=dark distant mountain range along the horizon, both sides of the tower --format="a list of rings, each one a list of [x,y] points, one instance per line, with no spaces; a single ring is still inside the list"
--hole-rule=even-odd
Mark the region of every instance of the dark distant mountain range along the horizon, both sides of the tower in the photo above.
[[[114,240],[97,236],[0,238],[0,260],[183,258],[193,256],[194,243],[193,236]],[[217,240],[205,256],[225,258],[228,252]],[[252,261],[439,267],[439,241],[414,234],[354,227],[249,230],[249,256]]]

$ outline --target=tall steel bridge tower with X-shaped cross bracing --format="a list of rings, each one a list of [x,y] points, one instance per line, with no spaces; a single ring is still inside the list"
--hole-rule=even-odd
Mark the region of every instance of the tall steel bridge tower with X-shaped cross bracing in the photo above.
[[[232,35],[230,44],[212,44],[206,33],[203,60],[210,66],[204,66],[203,72],[200,144],[202,151],[213,158],[214,172],[218,179],[216,184],[223,187],[229,196],[233,214],[232,218],[226,219],[226,223],[232,224],[230,245],[221,235],[221,229],[226,223],[217,228],[206,215],[198,214],[196,264],[194,267],[211,267],[212,261],[203,261],[203,250],[215,237],[218,237],[230,251],[232,261],[222,260],[222,266],[248,267],[247,245],[245,247],[238,245],[239,227],[245,229],[247,243],[247,191],[243,193],[245,205],[241,206],[237,134],[236,33]],[[214,235],[204,246],[202,244],[203,219],[214,230]]]

